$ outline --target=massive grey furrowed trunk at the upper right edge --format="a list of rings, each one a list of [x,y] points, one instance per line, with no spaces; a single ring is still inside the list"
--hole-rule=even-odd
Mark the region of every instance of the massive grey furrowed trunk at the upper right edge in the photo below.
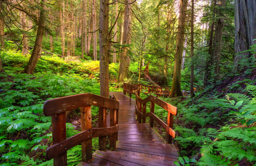
[[[243,58],[254,56],[252,52],[243,52],[256,44],[256,1],[235,0],[235,41],[234,67],[239,70],[238,62]]]

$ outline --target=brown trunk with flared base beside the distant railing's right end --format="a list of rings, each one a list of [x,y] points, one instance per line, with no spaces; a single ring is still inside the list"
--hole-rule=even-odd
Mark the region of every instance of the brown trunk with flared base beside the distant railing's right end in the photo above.
[[[175,63],[173,70],[171,97],[182,96],[181,93],[181,56],[185,33],[185,11],[187,10],[187,0],[180,0],[179,23],[176,37]]]

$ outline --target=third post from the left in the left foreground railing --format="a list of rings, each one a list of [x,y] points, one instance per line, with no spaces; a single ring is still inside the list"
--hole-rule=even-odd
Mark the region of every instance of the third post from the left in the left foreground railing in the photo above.
[[[106,108],[99,107],[99,128],[106,128]],[[106,136],[99,137],[99,150],[106,151]]]

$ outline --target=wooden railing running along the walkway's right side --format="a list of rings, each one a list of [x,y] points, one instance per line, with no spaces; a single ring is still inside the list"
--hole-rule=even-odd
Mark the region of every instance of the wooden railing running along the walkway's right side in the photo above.
[[[124,83],[124,94],[128,93],[130,96],[133,94],[136,97],[135,109],[137,114],[137,121],[139,123],[146,123],[146,117],[150,117],[150,127],[154,127],[154,121],[157,122],[166,132],[167,132],[167,142],[172,143],[172,138],[175,138],[175,131],[172,130],[173,127],[173,115],[177,115],[177,108],[169,103],[160,100],[155,96],[148,96],[145,99],[140,98],[140,87],[128,83]],[[150,102],[150,112],[146,113],[146,104]],[[159,119],[154,114],[154,104],[159,105],[163,109],[168,111],[167,124]]]

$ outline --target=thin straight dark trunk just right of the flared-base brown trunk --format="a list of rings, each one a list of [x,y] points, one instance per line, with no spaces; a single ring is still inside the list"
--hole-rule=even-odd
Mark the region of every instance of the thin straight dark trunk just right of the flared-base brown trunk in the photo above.
[[[190,20],[190,98],[194,97],[194,0],[191,0],[191,20]]]

